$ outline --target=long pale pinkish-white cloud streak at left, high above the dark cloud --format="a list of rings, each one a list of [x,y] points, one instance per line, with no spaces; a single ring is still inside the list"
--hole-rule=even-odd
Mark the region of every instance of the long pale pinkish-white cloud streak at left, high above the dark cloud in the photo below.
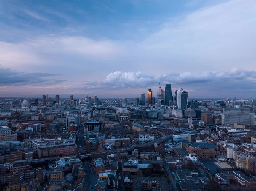
[[[112,60],[125,52],[125,46],[108,39],[93,40],[81,36],[48,35],[10,43],[0,41],[0,63],[5,67],[50,65],[68,60]],[[64,58],[64,59],[63,59]],[[52,63],[52,60],[55,63]],[[80,61],[81,62],[81,61]],[[20,64],[23,65],[20,65]],[[77,64],[77,63],[74,63]],[[81,64],[84,66],[84,63]]]

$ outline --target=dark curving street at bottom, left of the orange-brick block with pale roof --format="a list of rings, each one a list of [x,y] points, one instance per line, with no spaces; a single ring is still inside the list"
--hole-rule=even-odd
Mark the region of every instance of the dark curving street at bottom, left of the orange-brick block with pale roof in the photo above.
[[[90,162],[83,162],[83,167],[85,171],[86,183],[84,185],[83,191],[95,191],[97,184],[97,177],[93,171],[92,165]],[[92,189],[93,187],[93,189]]]

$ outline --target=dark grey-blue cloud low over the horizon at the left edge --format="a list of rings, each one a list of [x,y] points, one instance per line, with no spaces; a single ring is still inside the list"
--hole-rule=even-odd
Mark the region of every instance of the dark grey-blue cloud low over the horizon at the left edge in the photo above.
[[[51,85],[64,80],[53,80],[55,74],[18,72],[0,67],[0,86]]]

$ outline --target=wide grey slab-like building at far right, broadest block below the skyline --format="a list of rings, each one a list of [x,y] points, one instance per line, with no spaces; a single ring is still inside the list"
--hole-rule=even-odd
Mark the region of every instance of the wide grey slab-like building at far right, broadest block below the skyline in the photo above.
[[[250,108],[223,108],[222,125],[234,123],[254,127],[254,111]]]

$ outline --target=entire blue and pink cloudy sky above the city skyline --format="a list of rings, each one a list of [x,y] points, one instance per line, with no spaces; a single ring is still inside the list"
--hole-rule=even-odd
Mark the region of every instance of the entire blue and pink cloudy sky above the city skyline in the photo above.
[[[255,0],[0,0],[0,97],[256,98]]]

